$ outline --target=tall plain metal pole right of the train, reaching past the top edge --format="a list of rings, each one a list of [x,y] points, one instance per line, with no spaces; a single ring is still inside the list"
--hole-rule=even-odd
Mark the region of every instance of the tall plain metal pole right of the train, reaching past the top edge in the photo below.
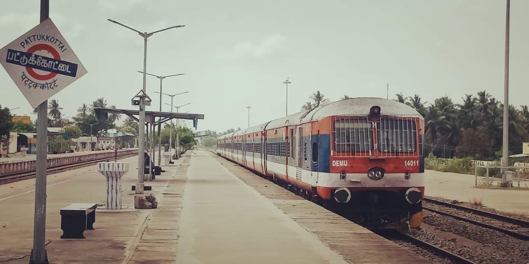
[[[504,72],[504,92],[503,92],[503,147],[501,158],[501,178],[507,179],[505,168],[509,165],[509,13],[510,0],[507,0],[505,15],[505,72]]]

